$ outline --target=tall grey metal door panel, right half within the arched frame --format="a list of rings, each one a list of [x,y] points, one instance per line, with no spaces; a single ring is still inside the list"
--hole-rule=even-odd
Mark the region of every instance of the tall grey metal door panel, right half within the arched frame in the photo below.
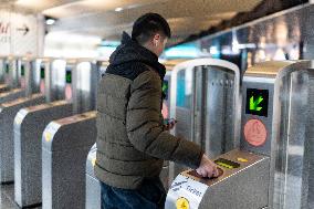
[[[239,142],[236,139],[240,118],[237,116],[237,96],[240,81],[236,73],[217,66],[207,71],[207,86],[203,115],[205,150],[210,157],[233,149]]]

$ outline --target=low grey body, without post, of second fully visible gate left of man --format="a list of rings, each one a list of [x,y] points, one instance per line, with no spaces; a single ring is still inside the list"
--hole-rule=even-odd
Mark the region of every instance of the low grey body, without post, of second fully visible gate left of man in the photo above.
[[[51,121],[72,115],[72,109],[73,104],[56,101],[18,112],[14,118],[14,200],[20,207],[42,202],[42,133]]]

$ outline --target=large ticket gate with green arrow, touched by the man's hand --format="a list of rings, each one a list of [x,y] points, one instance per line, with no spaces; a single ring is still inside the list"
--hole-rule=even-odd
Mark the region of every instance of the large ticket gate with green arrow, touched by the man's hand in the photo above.
[[[293,140],[303,142],[299,147],[302,149],[313,139],[308,123],[314,116],[310,114],[314,105],[314,70],[310,67],[308,61],[284,61],[265,62],[249,69],[243,77],[239,148],[214,158],[220,170],[218,178],[201,178],[195,170],[181,173],[168,191],[165,208],[295,209],[302,208],[295,201],[306,199],[308,203],[311,192],[295,196],[295,191],[301,192],[306,186],[310,188],[308,185],[287,181],[300,175],[292,175],[287,167],[302,170],[301,181],[311,180],[311,169],[300,166],[295,153],[291,153],[295,146],[291,145]],[[302,111],[307,115],[305,118],[300,116]],[[304,123],[297,123],[300,119]],[[304,132],[308,135],[302,135]],[[312,147],[301,151],[304,153],[302,161],[311,161],[313,154],[306,149],[310,151]]]

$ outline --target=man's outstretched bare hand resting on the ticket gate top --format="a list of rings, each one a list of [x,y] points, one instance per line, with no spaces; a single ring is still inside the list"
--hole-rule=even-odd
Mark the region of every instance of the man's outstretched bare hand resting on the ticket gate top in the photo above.
[[[202,156],[200,166],[196,169],[196,171],[205,178],[219,176],[219,171],[216,164],[211,161],[206,155]]]

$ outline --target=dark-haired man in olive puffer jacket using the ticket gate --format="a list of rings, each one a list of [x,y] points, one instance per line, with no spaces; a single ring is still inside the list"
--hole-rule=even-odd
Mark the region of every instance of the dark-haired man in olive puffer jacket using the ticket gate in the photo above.
[[[140,17],[132,38],[123,33],[100,83],[95,174],[102,208],[164,208],[166,191],[159,179],[164,159],[197,168],[203,177],[218,176],[198,145],[170,135],[163,125],[166,69],[158,56],[168,38],[170,28],[163,17]]]

